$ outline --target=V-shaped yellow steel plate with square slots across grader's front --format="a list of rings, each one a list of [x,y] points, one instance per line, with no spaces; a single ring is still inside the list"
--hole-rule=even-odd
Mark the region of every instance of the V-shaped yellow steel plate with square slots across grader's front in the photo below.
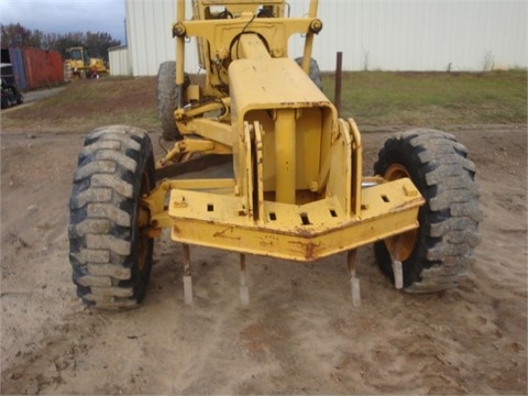
[[[172,239],[310,262],[417,228],[424,199],[415,191],[409,179],[365,188],[355,217],[344,216],[331,197],[301,206],[265,201],[265,219],[257,223],[242,198],[175,189]]]

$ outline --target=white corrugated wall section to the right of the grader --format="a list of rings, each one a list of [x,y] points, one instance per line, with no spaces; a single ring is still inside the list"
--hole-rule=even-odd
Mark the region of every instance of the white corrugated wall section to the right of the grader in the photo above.
[[[295,6],[294,6],[295,4]],[[293,4],[293,10],[298,2]],[[316,58],[332,69],[483,70],[528,66],[527,1],[320,1]]]

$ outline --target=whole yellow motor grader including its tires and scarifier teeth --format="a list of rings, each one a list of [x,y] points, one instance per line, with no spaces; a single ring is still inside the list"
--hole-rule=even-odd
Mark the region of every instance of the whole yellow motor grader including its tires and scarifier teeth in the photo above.
[[[248,255],[309,263],[343,253],[359,306],[356,251],[371,243],[396,288],[454,286],[474,260],[481,219],[466,148],[451,134],[410,130],[388,138],[374,176],[363,176],[356,123],[317,84],[317,0],[295,18],[284,0],[193,0],[190,20],[186,7],[177,1],[176,62],[158,75],[170,150],[155,162],[148,133],[111,125],[80,151],[69,202],[78,296],[100,308],[139,305],[164,229],[183,246],[187,304],[194,245],[240,254],[244,305]],[[288,57],[294,34],[304,37],[299,62]],[[202,79],[184,70],[190,38]],[[226,177],[186,177],[219,158],[232,163]]]

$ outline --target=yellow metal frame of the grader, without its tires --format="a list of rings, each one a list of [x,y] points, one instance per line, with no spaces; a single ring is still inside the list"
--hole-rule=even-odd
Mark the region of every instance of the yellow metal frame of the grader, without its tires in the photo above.
[[[237,18],[204,19],[219,3]],[[416,229],[424,199],[413,183],[362,177],[355,122],[339,119],[307,70],[285,57],[287,38],[305,34],[302,66],[309,66],[314,34],[322,28],[317,0],[299,19],[273,15],[284,13],[284,1],[264,3],[271,16],[255,18],[262,2],[195,1],[201,14],[195,16],[202,18],[184,22],[185,1],[178,1],[176,84],[185,89],[185,40],[199,36],[206,87],[190,85],[187,92],[202,89],[218,100],[178,106],[184,139],[160,164],[194,147],[232,153],[234,177],[162,180],[142,199],[150,234],[170,228],[172,239],[184,244],[310,262]],[[228,79],[230,96],[222,98],[219,86]],[[212,110],[222,113],[204,117]],[[405,260],[394,246],[393,257]]]

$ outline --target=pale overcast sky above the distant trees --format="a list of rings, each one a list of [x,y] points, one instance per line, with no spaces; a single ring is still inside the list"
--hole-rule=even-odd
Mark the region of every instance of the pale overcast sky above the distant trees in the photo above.
[[[0,0],[0,22],[44,33],[107,32],[124,44],[124,0]]]

